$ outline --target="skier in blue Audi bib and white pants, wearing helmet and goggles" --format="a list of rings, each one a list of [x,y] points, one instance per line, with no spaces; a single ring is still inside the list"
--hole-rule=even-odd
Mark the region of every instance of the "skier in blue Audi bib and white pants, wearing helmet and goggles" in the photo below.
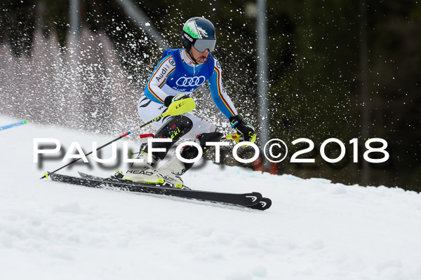
[[[253,126],[239,116],[222,85],[221,66],[212,55],[215,43],[215,27],[209,20],[187,20],[182,30],[183,48],[164,50],[139,100],[138,114],[144,121],[152,120],[166,111],[172,102],[191,97],[197,87],[208,81],[213,102],[236,130],[239,136],[237,140],[254,142]],[[180,175],[193,164],[182,162],[173,155],[159,168],[158,164],[166,158],[169,148],[179,139],[195,139],[203,149],[202,152],[206,153],[212,148],[206,146],[206,142],[220,141],[223,136],[216,131],[215,125],[192,113],[162,118],[152,123],[152,127],[157,130],[154,138],[171,138],[173,141],[154,143],[153,148],[166,148],[166,152],[153,152],[152,162],[147,161],[147,147],[143,148],[138,156],[143,162],[133,163],[123,179],[143,183],[165,180],[183,188]],[[185,146],[181,151],[185,159],[194,159],[198,154],[194,146]]]

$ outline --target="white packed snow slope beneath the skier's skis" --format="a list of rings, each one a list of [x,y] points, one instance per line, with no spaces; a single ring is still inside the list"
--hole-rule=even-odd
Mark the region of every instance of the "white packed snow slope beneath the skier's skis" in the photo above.
[[[15,121],[0,116],[0,126]],[[421,196],[400,188],[210,162],[185,174],[191,188],[272,199],[255,211],[39,179],[63,164],[39,169],[34,138],[87,153],[114,137],[30,122],[0,131],[1,279],[421,279]],[[77,170],[113,173],[61,173]]]

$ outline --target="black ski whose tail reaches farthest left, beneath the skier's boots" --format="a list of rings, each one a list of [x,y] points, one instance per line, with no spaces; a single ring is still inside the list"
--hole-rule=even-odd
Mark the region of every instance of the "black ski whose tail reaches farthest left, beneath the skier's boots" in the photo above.
[[[71,183],[79,186],[91,188],[105,188],[111,190],[123,190],[135,193],[150,193],[155,195],[169,195],[173,197],[182,197],[187,199],[219,202],[222,204],[234,204],[242,207],[255,207],[260,204],[262,195],[260,193],[215,193],[201,190],[182,190],[179,188],[171,188],[163,186],[159,183],[145,184],[130,181],[113,180],[113,179],[87,179],[62,174],[51,174],[49,178],[52,181],[62,183]],[[94,177],[95,178],[95,177]],[[258,207],[258,206],[256,206]],[[260,207],[258,207],[259,209]]]

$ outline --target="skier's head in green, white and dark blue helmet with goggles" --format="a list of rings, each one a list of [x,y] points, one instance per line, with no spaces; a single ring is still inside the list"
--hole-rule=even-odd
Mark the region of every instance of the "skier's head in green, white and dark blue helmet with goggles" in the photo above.
[[[196,64],[210,61],[215,43],[215,27],[206,18],[190,18],[182,28],[182,47]]]

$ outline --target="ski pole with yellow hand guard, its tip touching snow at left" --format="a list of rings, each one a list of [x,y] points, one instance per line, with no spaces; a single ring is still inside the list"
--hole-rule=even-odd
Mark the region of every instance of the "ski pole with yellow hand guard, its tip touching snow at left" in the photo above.
[[[178,115],[182,115],[183,113],[189,113],[190,111],[193,111],[196,108],[196,103],[194,102],[194,100],[189,97],[186,99],[180,99],[177,102],[173,102],[171,103],[170,106],[168,106],[168,110],[161,113],[161,115],[159,115],[158,117],[154,118],[153,120],[149,120],[149,122],[144,123],[143,125],[140,125],[140,127],[133,127],[133,129],[129,130],[128,132],[126,132],[125,134],[117,137],[116,139],[109,141],[107,144],[104,144],[102,146],[100,146],[99,148],[97,148],[97,151],[104,148],[105,146],[108,146],[109,144],[112,144],[113,142],[126,137],[130,134],[132,134],[133,132],[136,132],[138,130],[140,130],[142,127],[145,127],[147,125],[150,125],[151,123],[156,122],[157,120],[161,120],[161,118],[164,118],[166,116],[178,116]],[[93,153],[93,151],[91,151],[90,153],[87,153],[86,155],[91,155],[91,153]],[[44,176],[42,176],[40,179],[44,179],[47,178],[48,179],[48,175],[53,174],[55,172],[58,172],[59,170],[72,165],[74,162],[77,162],[78,160],[80,160],[81,158],[76,158],[76,160],[73,160],[72,162],[67,163],[67,165],[63,165],[62,167],[55,169],[53,172],[45,172]]]

